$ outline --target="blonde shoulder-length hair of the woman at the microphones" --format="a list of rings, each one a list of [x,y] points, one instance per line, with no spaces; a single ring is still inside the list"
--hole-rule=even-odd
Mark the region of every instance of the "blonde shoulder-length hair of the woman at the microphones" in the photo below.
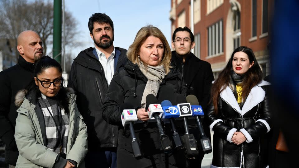
[[[168,74],[170,68],[172,68],[170,66],[171,49],[161,30],[159,30],[157,27],[153,25],[144,26],[137,32],[134,42],[130,45],[128,49],[127,57],[132,63],[134,64],[139,63],[138,54],[140,52],[140,47],[149,36],[157,37],[162,41],[164,45],[164,52],[163,52],[162,60],[159,63],[159,65],[163,65],[166,74]]]

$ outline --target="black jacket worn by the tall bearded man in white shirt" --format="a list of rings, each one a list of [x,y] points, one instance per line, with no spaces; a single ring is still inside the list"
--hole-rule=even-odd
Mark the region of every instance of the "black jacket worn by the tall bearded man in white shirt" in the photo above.
[[[69,75],[68,87],[77,95],[77,106],[87,126],[89,151],[102,147],[117,146],[117,126],[108,124],[102,118],[102,103],[106,96],[108,83],[103,67],[95,56],[95,48],[81,51],[74,59]],[[117,70],[124,61],[126,49],[115,47],[118,57]],[[115,72],[116,72],[115,70]]]

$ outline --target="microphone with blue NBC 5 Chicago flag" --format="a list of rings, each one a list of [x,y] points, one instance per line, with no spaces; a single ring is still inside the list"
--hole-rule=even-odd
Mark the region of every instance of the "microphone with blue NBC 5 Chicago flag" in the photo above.
[[[212,152],[212,145],[211,145],[211,141],[209,138],[206,137],[205,131],[202,127],[202,122],[200,121],[200,119],[198,118],[198,116],[204,115],[203,111],[202,111],[202,106],[199,105],[199,102],[196,98],[196,96],[194,95],[188,95],[186,97],[187,102],[189,102],[192,105],[192,109],[193,110],[193,116],[196,116],[196,120],[197,120],[197,126],[201,135],[201,139],[200,139],[200,143],[202,145],[202,150],[208,154]],[[198,110],[198,111],[196,111]]]

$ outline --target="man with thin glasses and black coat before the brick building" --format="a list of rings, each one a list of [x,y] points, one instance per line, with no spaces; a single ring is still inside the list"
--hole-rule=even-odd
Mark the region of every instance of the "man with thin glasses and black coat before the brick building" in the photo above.
[[[194,48],[194,35],[187,27],[178,27],[174,30],[172,36],[172,47],[175,51],[172,52],[172,59],[177,64],[183,79],[187,85],[187,95],[195,95],[205,112],[207,104],[210,100],[210,89],[212,81],[214,80],[211,64],[197,58],[190,52]],[[209,121],[207,117],[202,120],[206,136],[211,139],[209,129]],[[190,126],[190,133],[196,139],[200,139],[200,133],[196,125]],[[201,145],[198,145],[200,154],[195,159],[190,160],[190,167],[198,167],[202,163],[204,152]]]

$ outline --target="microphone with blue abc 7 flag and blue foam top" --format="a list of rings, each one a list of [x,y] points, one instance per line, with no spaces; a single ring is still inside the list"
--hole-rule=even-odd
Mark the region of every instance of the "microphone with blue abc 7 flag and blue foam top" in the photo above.
[[[173,130],[173,141],[175,144],[175,148],[177,150],[180,150],[184,148],[184,145],[182,144],[181,137],[178,134],[177,128],[175,127],[175,122],[173,118],[180,117],[180,113],[178,112],[178,108],[176,106],[173,106],[169,100],[163,100],[161,102],[162,109],[163,109],[163,118],[169,119],[172,130]]]

